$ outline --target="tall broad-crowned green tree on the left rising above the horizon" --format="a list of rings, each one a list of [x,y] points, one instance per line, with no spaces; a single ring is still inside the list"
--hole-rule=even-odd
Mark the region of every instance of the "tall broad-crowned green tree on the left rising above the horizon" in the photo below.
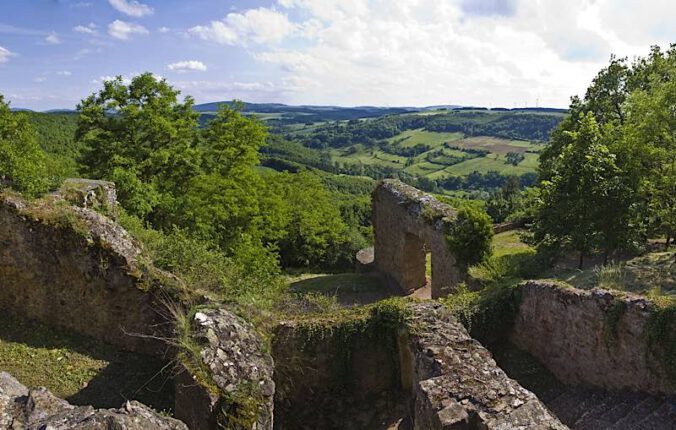
[[[106,81],[78,105],[84,173],[115,181],[123,207],[146,220],[164,218],[199,172],[198,115],[190,97],[178,96],[144,73],[129,85]]]

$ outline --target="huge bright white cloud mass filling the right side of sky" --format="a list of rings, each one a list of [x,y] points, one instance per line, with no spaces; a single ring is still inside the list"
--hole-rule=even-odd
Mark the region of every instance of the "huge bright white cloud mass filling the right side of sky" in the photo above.
[[[625,1],[635,6],[627,11],[611,0],[278,0],[278,9],[267,11],[286,19],[282,36],[254,39],[258,27],[248,17],[261,8],[191,33],[247,45],[253,58],[277,68],[275,85],[289,103],[513,107],[539,99],[541,106],[563,107],[584,92],[611,52],[645,54],[651,43],[668,46],[676,37],[676,5],[656,0],[662,5],[656,18],[640,0]],[[624,24],[605,22],[613,8],[626,15]],[[624,31],[632,17],[640,29]],[[650,22],[664,23],[657,26],[661,36]],[[637,44],[634,31],[651,42]]]

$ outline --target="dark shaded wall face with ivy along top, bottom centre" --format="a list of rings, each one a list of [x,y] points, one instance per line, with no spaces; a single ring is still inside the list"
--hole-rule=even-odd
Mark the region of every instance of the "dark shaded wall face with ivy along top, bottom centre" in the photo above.
[[[388,415],[406,413],[396,338],[352,331],[352,323],[276,327],[275,428],[380,428]]]

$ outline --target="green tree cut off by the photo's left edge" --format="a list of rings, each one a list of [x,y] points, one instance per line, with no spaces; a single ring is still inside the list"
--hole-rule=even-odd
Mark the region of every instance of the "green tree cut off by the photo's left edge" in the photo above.
[[[3,182],[27,195],[47,191],[46,157],[24,115],[10,111],[0,94],[0,186]]]

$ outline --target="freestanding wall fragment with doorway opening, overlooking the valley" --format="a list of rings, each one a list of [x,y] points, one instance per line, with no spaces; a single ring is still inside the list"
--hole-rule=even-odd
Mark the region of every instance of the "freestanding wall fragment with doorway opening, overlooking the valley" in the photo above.
[[[425,256],[432,253],[432,298],[454,291],[462,275],[444,232],[455,211],[429,194],[386,179],[373,192],[375,269],[396,289],[425,286]]]

